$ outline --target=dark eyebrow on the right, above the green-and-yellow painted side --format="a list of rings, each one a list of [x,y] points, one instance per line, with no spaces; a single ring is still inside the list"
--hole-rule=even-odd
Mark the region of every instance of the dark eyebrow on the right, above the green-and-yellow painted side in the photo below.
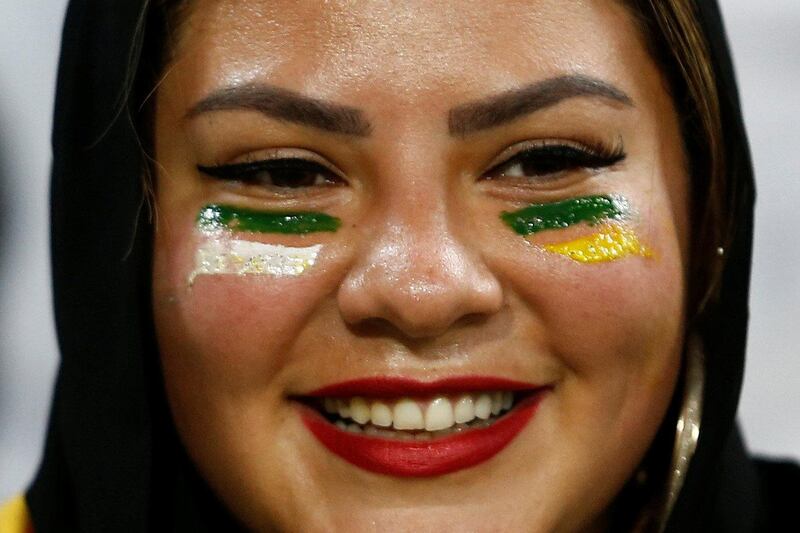
[[[614,85],[599,78],[572,74],[456,106],[450,110],[448,129],[450,135],[464,137],[511,122],[563,100],[587,96],[633,107],[631,97]]]

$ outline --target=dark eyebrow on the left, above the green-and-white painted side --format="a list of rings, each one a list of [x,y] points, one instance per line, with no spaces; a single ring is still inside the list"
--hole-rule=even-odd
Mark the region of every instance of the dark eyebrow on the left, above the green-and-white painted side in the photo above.
[[[258,111],[278,120],[356,137],[365,137],[372,131],[372,125],[360,109],[255,83],[219,89],[192,106],[186,117],[230,110]]]

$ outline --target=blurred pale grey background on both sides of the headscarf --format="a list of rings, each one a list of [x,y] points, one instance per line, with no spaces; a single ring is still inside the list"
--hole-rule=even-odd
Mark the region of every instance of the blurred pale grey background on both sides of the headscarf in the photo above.
[[[740,421],[751,449],[800,459],[800,2],[721,4],[759,187]],[[48,179],[65,7],[0,0],[0,501],[37,467],[57,365]]]

